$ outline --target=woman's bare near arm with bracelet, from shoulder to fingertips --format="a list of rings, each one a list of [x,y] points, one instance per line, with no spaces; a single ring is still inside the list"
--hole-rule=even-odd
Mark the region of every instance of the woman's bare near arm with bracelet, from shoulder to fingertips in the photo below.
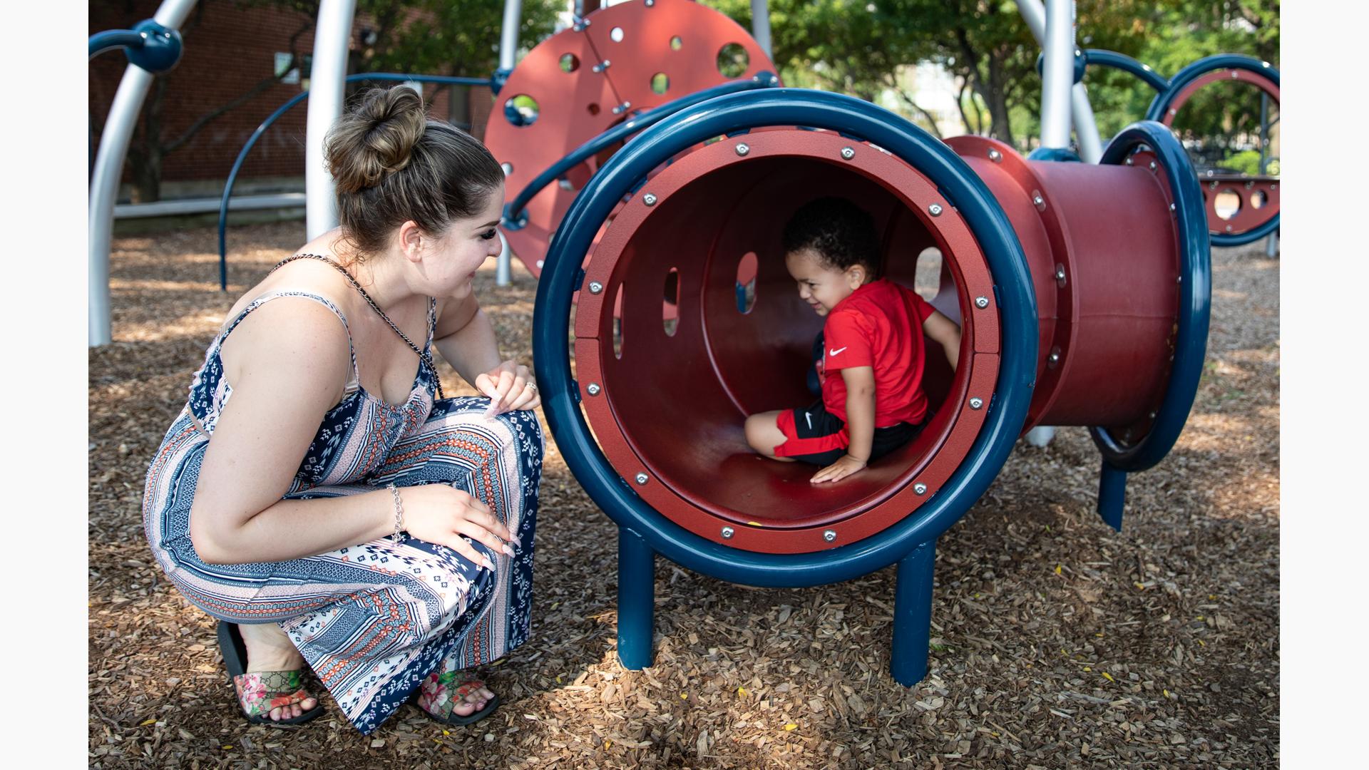
[[[277,299],[234,329],[222,358],[233,396],[205,449],[190,507],[199,556],[208,563],[278,562],[393,533],[387,489],[281,499],[350,371],[337,316],[311,300]],[[415,537],[449,545],[476,563],[482,558],[460,534],[494,548],[502,547],[494,534],[508,538],[485,506],[450,486],[404,489],[402,501]]]

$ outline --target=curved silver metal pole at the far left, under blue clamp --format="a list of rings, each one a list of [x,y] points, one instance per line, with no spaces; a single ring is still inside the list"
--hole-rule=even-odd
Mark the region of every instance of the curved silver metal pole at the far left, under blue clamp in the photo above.
[[[181,29],[196,0],[166,0],[152,16],[168,29]],[[86,211],[89,233],[86,236],[86,258],[89,275],[86,293],[89,318],[86,319],[86,344],[92,348],[108,345],[114,340],[110,322],[110,241],[114,232],[114,201],[119,197],[119,177],[123,174],[123,159],[129,152],[133,127],[138,123],[142,100],[152,86],[152,73],[129,64],[119,81],[119,90],[110,105],[110,118],[100,137],[100,152],[96,155],[90,173],[90,200]]]

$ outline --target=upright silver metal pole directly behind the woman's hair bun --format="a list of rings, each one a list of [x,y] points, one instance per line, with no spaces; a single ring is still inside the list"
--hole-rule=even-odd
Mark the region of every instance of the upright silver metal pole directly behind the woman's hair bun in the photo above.
[[[309,115],[304,137],[304,232],[309,240],[337,227],[333,177],[323,163],[323,138],[342,114],[346,51],[356,0],[323,0],[314,33]]]

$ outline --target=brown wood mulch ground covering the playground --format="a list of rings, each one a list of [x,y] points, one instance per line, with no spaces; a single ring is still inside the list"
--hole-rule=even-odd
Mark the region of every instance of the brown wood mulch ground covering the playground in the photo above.
[[[92,767],[1272,767],[1279,760],[1279,263],[1214,249],[1209,358],[1188,427],[1132,477],[1123,533],[1094,512],[1082,427],[1020,443],[942,538],[931,674],[888,677],[893,567],[753,589],[657,567],[656,665],[615,654],[616,533],[548,454],[533,640],[491,667],[465,729],[405,706],[361,736],[334,711],[249,726],[214,621],[162,577],[142,477],[233,300],[301,223],[114,244],[112,345],[92,349]],[[530,362],[533,278],[478,277]],[[444,382],[459,388],[444,366]],[[460,384],[464,386],[464,384]],[[550,441],[549,441],[550,444]],[[329,707],[331,701],[324,699]]]

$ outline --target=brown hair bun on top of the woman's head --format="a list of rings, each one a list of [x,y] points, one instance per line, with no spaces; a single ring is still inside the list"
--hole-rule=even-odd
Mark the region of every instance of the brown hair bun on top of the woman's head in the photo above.
[[[323,153],[337,192],[372,188],[408,166],[426,125],[423,97],[413,89],[372,88],[363,93],[324,138]]]

